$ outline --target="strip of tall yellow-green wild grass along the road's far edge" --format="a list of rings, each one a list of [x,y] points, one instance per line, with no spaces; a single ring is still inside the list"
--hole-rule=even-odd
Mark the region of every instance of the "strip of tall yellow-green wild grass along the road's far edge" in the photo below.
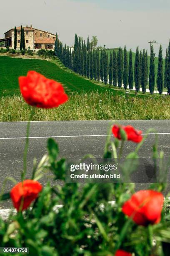
[[[33,121],[170,119],[170,97],[129,97],[109,92],[72,94],[54,109],[36,108]],[[0,98],[0,121],[28,121],[31,107],[22,96]]]

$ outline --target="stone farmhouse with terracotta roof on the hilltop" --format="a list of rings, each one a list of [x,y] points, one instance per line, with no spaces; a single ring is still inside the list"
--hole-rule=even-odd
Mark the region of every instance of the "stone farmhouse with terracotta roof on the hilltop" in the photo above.
[[[20,49],[20,30],[21,27],[17,27],[17,49]],[[28,49],[53,49],[55,45],[56,35],[48,31],[32,28],[32,26],[24,27],[25,31],[25,47]],[[4,46],[9,46],[14,49],[14,28],[5,32],[5,38],[0,39],[0,42],[4,43]]]

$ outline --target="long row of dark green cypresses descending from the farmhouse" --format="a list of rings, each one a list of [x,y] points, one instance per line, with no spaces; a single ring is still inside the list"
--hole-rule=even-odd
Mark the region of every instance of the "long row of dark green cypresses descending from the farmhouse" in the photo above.
[[[146,92],[149,82],[150,93],[153,94],[155,83],[158,92],[163,92],[163,87],[167,88],[170,94],[170,43],[166,50],[165,72],[163,74],[163,50],[160,45],[158,56],[158,73],[155,77],[155,54],[153,46],[150,49],[150,66],[148,67],[148,52],[143,49],[140,51],[137,47],[135,54],[135,63],[133,67],[133,53],[130,49],[129,58],[126,46],[124,50],[119,47],[116,51],[107,51],[96,49],[87,38],[87,43],[75,34],[74,49],[68,46],[63,47],[62,42],[56,35],[55,55],[62,61],[65,67],[89,79],[97,82],[109,84],[113,87],[124,87],[126,90],[132,90],[135,87],[136,92]],[[148,79],[149,78],[149,79]]]

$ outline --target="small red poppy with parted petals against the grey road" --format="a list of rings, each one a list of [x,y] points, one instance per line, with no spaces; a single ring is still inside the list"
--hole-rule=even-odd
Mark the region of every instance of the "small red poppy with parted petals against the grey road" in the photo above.
[[[140,141],[142,141],[142,139],[143,139],[143,136],[141,135],[142,131],[135,130],[135,128],[133,126],[131,126],[131,125],[127,125],[127,126],[113,125],[112,133],[119,140],[121,140],[120,128],[125,131],[128,141],[133,141],[136,143],[140,143]]]

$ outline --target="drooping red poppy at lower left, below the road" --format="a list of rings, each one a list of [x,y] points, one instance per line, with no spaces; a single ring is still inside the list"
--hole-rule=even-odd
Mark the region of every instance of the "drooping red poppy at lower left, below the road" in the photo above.
[[[13,200],[14,207],[19,211],[20,204],[23,198],[22,211],[27,209],[38,193],[42,190],[42,185],[31,179],[26,179],[24,182],[16,184],[10,191],[10,197]]]

